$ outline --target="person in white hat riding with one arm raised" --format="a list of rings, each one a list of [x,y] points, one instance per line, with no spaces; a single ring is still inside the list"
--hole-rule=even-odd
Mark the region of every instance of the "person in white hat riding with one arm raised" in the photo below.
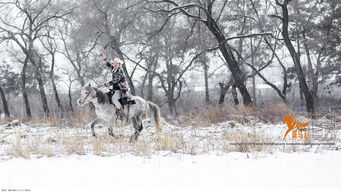
[[[110,89],[109,95],[113,95],[112,103],[116,106],[117,112],[122,114],[123,107],[121,103],[119,102],[119,99],[127,98],[128,91],[129,91],[127,78],[121,67],[121,65],[124,62],[119,58],[115,58],[114,60],[108,60],[108,57],[105,54],[105,52],[102,52],[101,56],[103,56],[104,61],[106,62],[106,66],[110,68],[110,71],[112,73],[112,80],[104,83],[100,87],[105,86]]]

